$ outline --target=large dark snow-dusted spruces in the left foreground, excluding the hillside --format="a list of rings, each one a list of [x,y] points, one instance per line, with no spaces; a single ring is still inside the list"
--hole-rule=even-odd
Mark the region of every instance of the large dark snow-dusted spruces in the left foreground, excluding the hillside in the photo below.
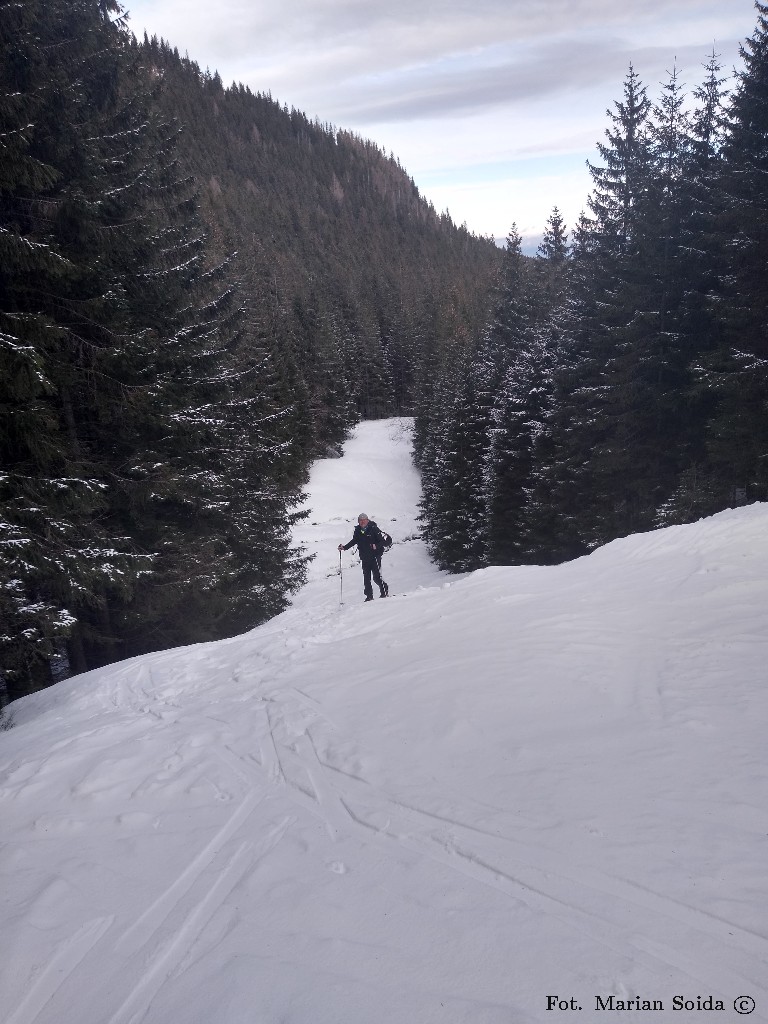
[[[283,368],[211,254],[120,10],[14,11],[0,116],[29,127],[0,237],[27,262],[0,271],[0,600],[18,695],[63,637],[79,671],[256,625],[303,561]]]

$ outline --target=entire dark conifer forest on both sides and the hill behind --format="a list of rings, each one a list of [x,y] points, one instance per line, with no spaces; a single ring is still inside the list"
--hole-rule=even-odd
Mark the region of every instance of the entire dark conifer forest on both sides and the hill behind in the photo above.
[[[117,0],[0,0],[0,705],[283,610],[308,467],[360,419],[415,418],[453,571],[768,500],[756,12],[735,77],[629,69],[528,257]]]

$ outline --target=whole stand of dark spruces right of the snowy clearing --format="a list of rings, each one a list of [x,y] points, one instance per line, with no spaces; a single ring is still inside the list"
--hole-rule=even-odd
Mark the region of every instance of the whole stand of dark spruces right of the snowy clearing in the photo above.
[[[513,227],[496,308],[417,414],[454,571],[551,564],[768,499],[768,6],[730,83],[630,68],[570,240]],[[728,86],[731,86],[728,88]]]

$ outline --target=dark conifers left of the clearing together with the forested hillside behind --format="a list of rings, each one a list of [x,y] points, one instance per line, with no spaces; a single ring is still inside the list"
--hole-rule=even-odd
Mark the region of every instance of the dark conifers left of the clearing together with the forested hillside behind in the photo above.
[[[0,705],[282,610],[312,459],[413,412],[501,253],[373,143],[0,2]]]

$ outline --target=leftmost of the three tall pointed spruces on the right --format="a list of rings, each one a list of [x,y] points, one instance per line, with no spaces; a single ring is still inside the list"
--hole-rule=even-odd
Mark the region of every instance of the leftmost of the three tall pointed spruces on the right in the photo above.
[[[648,189],[650,101],[634,69],[624,100],[608,111],[603,164],[590,165],[591,217],[573,234],[571,291],[563,318],[564,364],[551,416],[552,501],[557,547],[573,553],[627,532],[635,501],[627,459],[636,438],[620,439],[620,414],[632,400],[623,379],[617,332],[634,316],[626,286],[636,272],[639,220]],[[623,287],[624,286],[624,287]],[[629,485],[629,489],[628,489]]]

